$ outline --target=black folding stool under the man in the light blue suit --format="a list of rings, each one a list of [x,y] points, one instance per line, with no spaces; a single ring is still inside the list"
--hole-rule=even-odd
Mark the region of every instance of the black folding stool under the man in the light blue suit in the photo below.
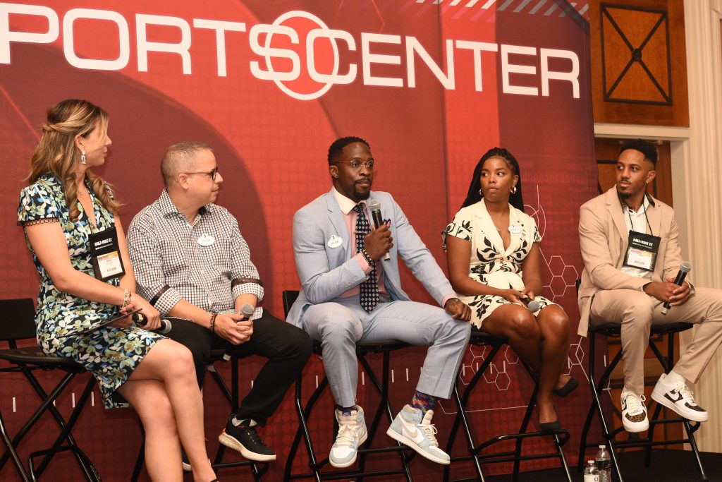
[[[296,301],[297,296],[298,291],[283,292],[283,309],[286,316],[288,316],[288,311],[291,309],[294,301]],[[368,375],[368,379],[370,380],[371,384],[373,384],[376,390],[378,390],[378,393],[380,395],[380,401],[373,417],[373,423],[371,423],[371,428],[368,431],[367,441],[362,446],[364,448],[360,448],[358,450],[358,468],[356,470],[334,470],[331,472],[321,472],[321,469],[327,463],[329,463],[329,459],[325,458],[320,462],[318,461],[318,458],[316,457],[316,452],[313,449],[313,443],[311,442],[310,431],[308,430],[308,418],[310,417],[311,410],[313,410],[313,405],[315,405],[316,401],[318,401],[318,398],[321,397],[323,390],[328,387],[329,379],[326,378],[326,376],[323,377],[323,380],[321,381],[321,383],[318,384],[318,387],[316,388],[316,390],[314,390],[313,394],[311,394],[308,402],[304,406],[303,402],[301,401],[302,376],[298,377],[298,379],[296,380],[295,404],[300,424],[293,439],[293,443],[291,444],[288,459],[286,461],[286,470],[284,472],[283,478],[284,481],[290,481],[294,478],[315,478],[316,481],[320,482],[322,480],[329,479],[378,477],[383,475],[404,475],[406,481],[412,481],[411,471],[409,470],[408,462],[409,460],[412,460],[414,455],[416,455],[416,452],[412,452],[411,449],[400,444],[399,442],[396,442],[396,446],[392,447],[370,448],[373,437],[376,434],[378,425],[381,421],[381,417],[386,414],[388,423],[391,423],[391,421],[393,421],[393,417],[395,416],[393,410],[391,409],[391,404],[388,402],[388,377],[390,371],[389,354],[393,350],[399,350],[401,348],[406,348],[409,346],[410,345],[407,343],[401,343],[396,340],[360,342],[356,344],[356,355],[358,357],[358,360],[361,363],[361,366],[363,366],[363,369],[366,371],[366,374]],[[319,356],[322,354],[320,342],[314,341],[313,353],[316,353],[316,355]],[[383,374],[381,376],[380,382],[378,376],[375,374],[366,359],[366,356],[370,353],[382,353],[383,355]],[[334,420],[334,431],[336,430],[338,430],[338,426],[336,426],[336,422]],[[308,465],[311,469],[310,473],[292,473],[293,461],[295,460],[296,452],[301,442],[301,437],[303,437],[306,444],[306,449],[308,450]],[[378,470],[375,472],[365,472],[364,468],[366,455],[380,452],[398,452],[401,467],[397,470]]]

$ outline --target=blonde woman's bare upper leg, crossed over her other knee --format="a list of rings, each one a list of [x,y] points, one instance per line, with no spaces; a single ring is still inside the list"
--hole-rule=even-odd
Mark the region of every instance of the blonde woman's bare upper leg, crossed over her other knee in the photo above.
[[[203,400],[190,350],[173,340],[160,340],[129,378],[129,382],[144,380],[161,382],[168,395],[178,435],[193,467],[193,480],[208,482],[214,479],[215,474],[206,454]]]

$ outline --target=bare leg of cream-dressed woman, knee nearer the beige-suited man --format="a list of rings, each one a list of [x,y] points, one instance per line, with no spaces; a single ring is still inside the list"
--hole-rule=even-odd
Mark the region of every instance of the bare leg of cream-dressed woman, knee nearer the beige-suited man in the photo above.
[[[560,380],[562,366],[569,353],[569,319],[559,306],[547,306],[536,317],[541,330],[541,369],[539,370],[539,421],[548,422],[557,419],[552,410],[552,394]],[[543,409],[544,408],[544,409]]]

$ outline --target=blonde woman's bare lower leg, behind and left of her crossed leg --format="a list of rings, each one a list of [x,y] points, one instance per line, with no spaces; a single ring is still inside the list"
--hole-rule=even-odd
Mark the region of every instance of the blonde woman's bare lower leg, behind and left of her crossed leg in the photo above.
[[[165,386],[155,380],[128,381],[118,389],[145,429],[145,467],[152,481],[182,481],[181,444]]]

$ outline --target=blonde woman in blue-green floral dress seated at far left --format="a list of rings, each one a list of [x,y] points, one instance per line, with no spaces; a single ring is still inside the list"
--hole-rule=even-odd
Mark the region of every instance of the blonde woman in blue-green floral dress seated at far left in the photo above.
[[[18,223],[40,274],[38,345],[92,371],[105,408],[135,408],[154,481],[183,479],[180,438],[193,479],[208,482],[215,475],[206,455],[191,352],[149,331],[160,327],[160,315],[135,293],[119,204],[108,184],[90,171],[105,163],[109,146],[103,109],[84,100],[64,100],[48,109],[18,207]],[[113,235],[115,255],[95,256],[94,263],[90,239]],[[134,310],[146,317],[144,329],[126,317],[79,334]]]

